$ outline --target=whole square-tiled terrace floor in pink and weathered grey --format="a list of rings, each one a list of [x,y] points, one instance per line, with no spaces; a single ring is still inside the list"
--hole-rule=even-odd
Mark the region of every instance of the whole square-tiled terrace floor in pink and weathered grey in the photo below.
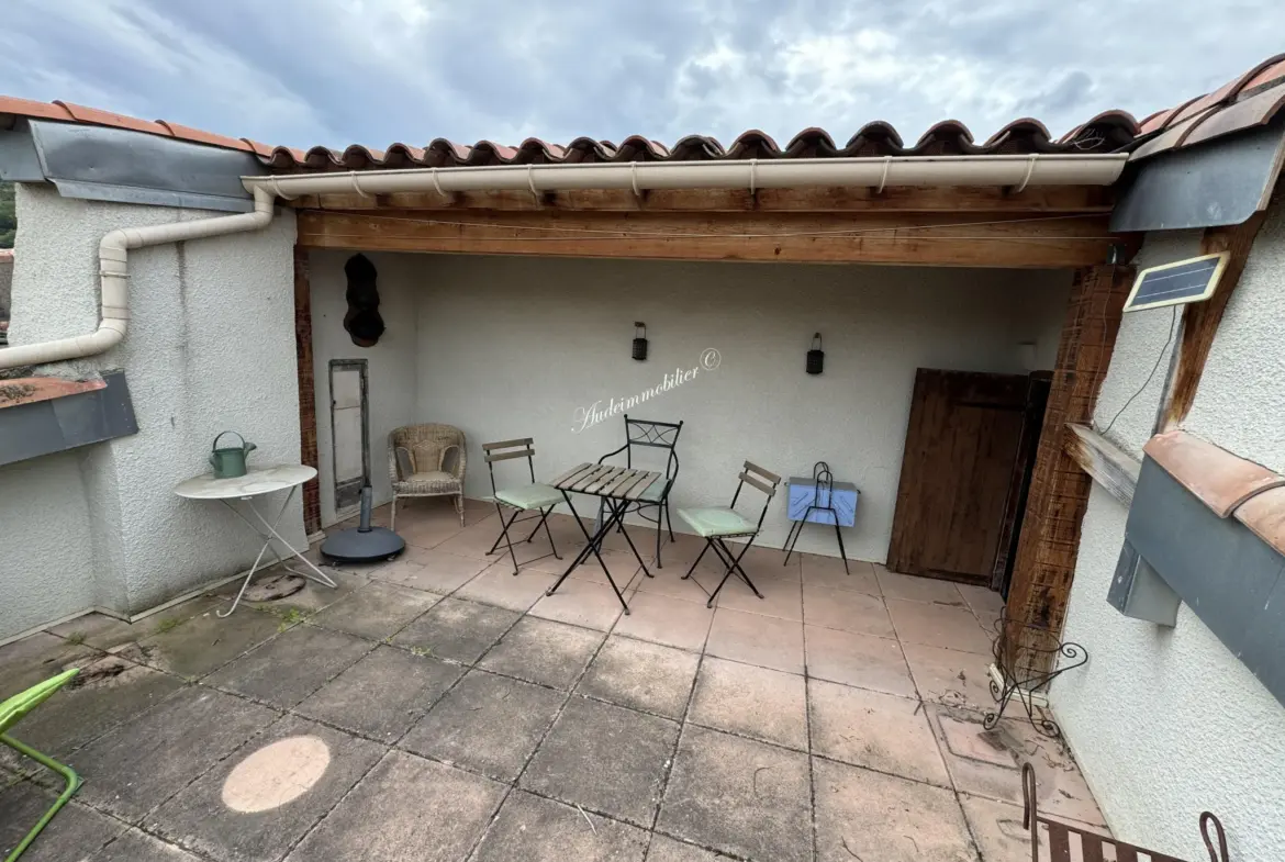
[[[986,591],[754,550],[766,599],[729,582],[708,610],[680,536],[626,617],[596,564],[546,597],[563,563],[514,577],[493,511],[468,520],[412,504],[405,555],[338,590],[220,619],[231,585],[0,649],[5,695],[84,668],[15,728],[85,777],[23,862],[1025,859],[1019,759],[1046,812],[1101,823],[1056,744],[980,727]],[[50,799],[17,766],[0,853]]]

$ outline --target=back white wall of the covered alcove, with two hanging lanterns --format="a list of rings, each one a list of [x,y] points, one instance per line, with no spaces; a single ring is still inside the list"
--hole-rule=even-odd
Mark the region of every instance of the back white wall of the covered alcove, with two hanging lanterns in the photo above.
[[[481,443],[533,437],[544,478],[596,460],[623,442],[623,420],[577,433],[577,409],[636,396],[714,348],[717,370],[630,411],[686,423],[675,506],[726,505],[745,459],[783,477],[825,460],[862,492],[844,541],[851,556],[871,560],[888,550],[915,369],[1024,373],[1022,342],[1038,342],[1034,367],[1050,367],[1069,288],[1059,272],[402,261],[380,268],[380,285],[387,290],[396,276],[415,288],[416,420],[464,429],[470,496],[490,493]],[[330,268],[341,265],[335,258]],[[635,320],[648,325],[646,362],[630,357]],[[804,353],[817,330],[825,373],[810,376]],[[374,457],[386,457],[382,444]],[[777,501],[762,541],[780,546],[788,528]],[[677,518],[675,529],[684,529]],[[799,549],[837,554],[821,529],[804,531]]]

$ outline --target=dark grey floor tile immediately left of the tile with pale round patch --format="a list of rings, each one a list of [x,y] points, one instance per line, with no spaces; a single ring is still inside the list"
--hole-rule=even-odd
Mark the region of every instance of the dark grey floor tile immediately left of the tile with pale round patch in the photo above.
[[[137,820],[276,718],[267,707],[189,686],[67,763],[85,776],[80,799]]]

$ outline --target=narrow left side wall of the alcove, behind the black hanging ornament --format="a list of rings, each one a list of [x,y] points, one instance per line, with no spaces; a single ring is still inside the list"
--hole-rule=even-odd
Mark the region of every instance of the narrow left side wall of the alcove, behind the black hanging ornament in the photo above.
[[[314,252],[312,366],[316,373],[317,465],[321,474],[321,525],[339,516],[334,510],[334,448],[330,427],[330,360],[366,360],[370,425],[370,482],[377,506],[392,500],[388,480],[388,433],[416,421],[419,380],[419,286],[411,277],[416,258],[405,254],[368,254],[379,274],[379,313],[384,334],[374,347],[352,343],[343,328],[348,311],[343,265],[347,252]]]

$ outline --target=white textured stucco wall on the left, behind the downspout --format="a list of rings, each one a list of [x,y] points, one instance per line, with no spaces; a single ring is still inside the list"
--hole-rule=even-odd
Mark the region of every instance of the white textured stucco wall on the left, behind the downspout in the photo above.
[[[71,200],[51,186],[21,185],[14,272],[15,344],[91,331],[98,324],[98,243],[114,227],[206,218],[218,213]],[[248,565],[258,543],[217,504],[184,501],[172,487],[207,468],[215,435],[244,433],[258,444],[253,464],[298,462],[292,247],[288,211],[266,230],[130,253],[130,331],[108,353],[58,373],[125,369],[139,433],[77,452],[89,489],[95,595],[136,613]],[[0,498],[21,493],[51,516],[33,524],[35,541],[67,541],[78,515],[46,506],[66,493],[58,457],[23,466],[21,487],[0,473]],[[294,502],[283,533],[302,541]],[[8,525],[8,523],[6,523]],[[27,591],[6,595],[0,637],[22,626],[17,608],[63,577],[53,565],[28,572]],[[30,594],[30,595],[28,595]],[[12,600],[12,603],[9,601]],[[66,613],[73,608],[71,603]]]

